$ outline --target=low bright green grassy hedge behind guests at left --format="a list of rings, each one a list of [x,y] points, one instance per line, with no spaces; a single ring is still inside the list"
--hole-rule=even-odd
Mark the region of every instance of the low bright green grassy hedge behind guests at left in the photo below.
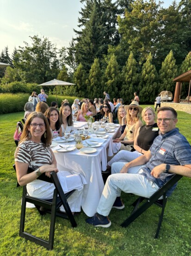
[[[0,93],[0,114],[24,111],[25,103],[28,102],[30,95],[31,94],[28,93]],[[72,105],[76,97],[58,96],[59,106],[61,106],[61,102],[65,98],[67,98],[69,104]],[[47,99],[47,104],[50,106],[50,103],[55,100],[55,95],[49,95],[49,98]]]

